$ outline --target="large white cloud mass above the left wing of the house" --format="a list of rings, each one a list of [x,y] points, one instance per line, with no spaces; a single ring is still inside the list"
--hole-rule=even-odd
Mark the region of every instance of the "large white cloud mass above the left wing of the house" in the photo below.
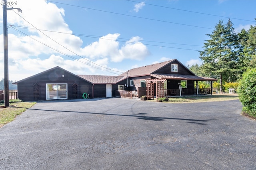
[[[124,59],[142,60],[149,55],[146,45],[140,42],[142,38],[135,36],[126,43],[120,44],[117,41],[120,36],[118,33],[107,34],[106,36],[99,38],[98,41],[83,46],[83,42],[78,36],[71,35],[72,30],[70,30],[68,24],[66,24],[64,20],[64,9],[58,8],[51,2],[45,0],[36,0],[36,2],[35,0],[18,0],[18,6],[15,6],[14,8],[16,7],[22,9],[22,13],[19,15],[26,21],[15,12],[8,11],[8,24],[28,28],[33,28],[33,26],[35,26],[40,30],[55,31],[42,32],[59,44],[36,29],[22,30],[19,27],[16,28],[25,32],[28,35],[27,36],[18,33],[15,34],[16,32],[14,29],[9,28],[8,56],[10,79],[18,81],[52,67],[56,67],[57,65],[75,74],[106,75],[108,73],[102,70],[107,69],[102,67],[120,71],[117,68],[109,67],[108,65],[110,62],[120,62]],[[2,8],[0,8],[0,22],[2,22]],[[56,32],[65,32],[68,34],[60,34]],[[0,44],[3,44],[2,34],[0,34]],[[70,58],[66,55],[69,55]],[[0,65],[4,65],[3,56],[3,49],[0,48]],[[85,59],[82,59],[81,57],[84,57]],[[99,66],[88,60],[101,65],[102,67],[100,68],[102,70],[95,68]],[[3,71],[3,67],[0,67],[0,78],[4,77]]]

